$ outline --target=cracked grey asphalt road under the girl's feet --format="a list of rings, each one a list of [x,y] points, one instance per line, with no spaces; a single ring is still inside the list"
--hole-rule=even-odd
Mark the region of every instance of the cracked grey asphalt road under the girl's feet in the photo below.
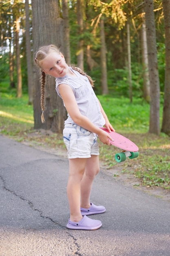
[[[100,171],[95,231],[66,228],[68,160],[0,135],[0,256],[170,256],[170,202]]]

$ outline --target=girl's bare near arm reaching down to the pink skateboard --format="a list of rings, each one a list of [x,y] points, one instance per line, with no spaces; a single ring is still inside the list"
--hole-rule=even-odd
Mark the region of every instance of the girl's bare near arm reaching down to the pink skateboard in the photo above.
[[[74,93],[73,93],[73,90],[71,89],[71,87],[67,84],[60,84],[59,91],[60,91],[61,97],[64,101],[66,110],[69,113],[69,115],[71,116],[71,118],[73,119],[73,121],[75,122],[75,124],[78,124],[79,126],[85,128],[86,130],[96,133],[98,135],[99,139],[104,144],[110,145],[110,142],[108,139],[113,141],[113,139],[110,137],[110,135],[108,135],[108,133],[105,132],[104,130],[95,126],[87,117],[85,117],[84,115],[82,115],[79,112],[79,108],[78,108],[78,105],[75,100],[75,96],[74,96]]]

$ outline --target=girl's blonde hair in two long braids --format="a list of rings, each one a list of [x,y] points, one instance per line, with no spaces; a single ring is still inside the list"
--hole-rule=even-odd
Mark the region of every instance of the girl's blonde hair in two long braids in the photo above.
[[[38,52],[35,54],[35,64],[38,65],[38,67],[40,68],[40,72],[41,72],[41,110],[42,110],[42,115],[41,115],[41,121],[42,123],[45,122],[44,119],[44,92],[45,92],[45,79],[46,79],[46,74],[44,73],[44,71],[42,70],[41,67],[41,61],[44,60],[44,58],[46,58],[46,56],[50,53],[50,52],[57,52],[58,54],[60,54],[60,49],[58,49],[57,46],[55,45],[44,45],[41,46],[38,49]],[[76,70],[77,72],[79,72],[80,74],[82,74],[83,76],[87,76],[88,80],[90,81],[92,87],[94,86],[94,81],[91,78],[91,76],[88,76],[84,71],[82,71],[79,67],[75,67],[74,65],[68,65],[69,67],[72,67],[73,70]]]

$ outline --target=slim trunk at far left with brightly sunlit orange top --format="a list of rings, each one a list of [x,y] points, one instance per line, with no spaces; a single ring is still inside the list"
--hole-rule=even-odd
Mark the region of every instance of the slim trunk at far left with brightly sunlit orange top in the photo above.
[[[20,61],[19,31],[20,31],[20,21],[19,21],[19,18],[16,17],[15,42],[16,42],[16,62],[17,62],[17,98],[22,97],[22,75],[21,75],[21,61]]]

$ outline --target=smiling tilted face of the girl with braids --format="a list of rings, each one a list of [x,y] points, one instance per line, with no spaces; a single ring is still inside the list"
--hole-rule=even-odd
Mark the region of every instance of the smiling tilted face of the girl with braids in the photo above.
[[[50,52],[40,65],[44,73],[54,77],[63,77],[71,72],[62,53]]]

